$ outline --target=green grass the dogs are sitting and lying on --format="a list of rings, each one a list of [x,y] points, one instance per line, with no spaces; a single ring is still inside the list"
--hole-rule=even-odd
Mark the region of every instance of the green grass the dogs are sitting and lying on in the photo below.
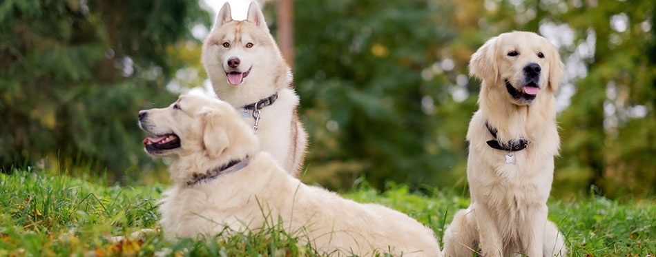
[[[298,233],[277,226],[262,232],[168,242],[161,232],[112,243],[111,236],[157,227],[157,199],[168,185],[119,187],[53,172],[0,174],[0,256],[313,256]],[[438,240],[467,197],[436,191],[412,194],[394,185],[382,194],[364,186],[344,195],[381,203],[434,229]],[[550,220],[566,234],[571,256],[656,254],[655,201],[618,201],[592,196],[550,203]]]

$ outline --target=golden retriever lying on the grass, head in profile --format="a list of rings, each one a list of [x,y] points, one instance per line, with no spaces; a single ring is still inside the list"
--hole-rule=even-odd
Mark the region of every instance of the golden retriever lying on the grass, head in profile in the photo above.
[[[139,125],[157,136],[144,139],[148,154],[175,157],[175,187],[160,206],[167,238],[225,228],[257,231],[279,217],[285,229],[300,230],[298,236],[320,253],[441,256],[432,230],[409,216],[345,200],[289,176],[260,152],[251,127],[228,103],[183,95],[164,109],[139,112]]]

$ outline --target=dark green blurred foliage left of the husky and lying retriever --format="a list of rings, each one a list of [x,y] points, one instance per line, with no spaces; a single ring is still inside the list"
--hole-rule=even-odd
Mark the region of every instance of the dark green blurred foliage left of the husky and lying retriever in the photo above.
[[[0,2],[0,165],[84,163],[123,174],[140,154],[137,112],[175,99],[170,54],[210,23],[197,2]]]

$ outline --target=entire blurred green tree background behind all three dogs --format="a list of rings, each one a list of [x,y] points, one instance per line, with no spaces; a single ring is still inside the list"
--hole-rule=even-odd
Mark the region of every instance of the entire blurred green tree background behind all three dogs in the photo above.
[[[275,8],[267,1],[273,34]],[[304,181],[344,189],[364,176],[378,188],[464,189],[465,133],[480,87],[467,62],[485,39],[529,30],[555,40],[568,69],[554,194],[656,189],[656,2],[307,0],[294,8],[295,86],[311,136]],[[210,23],[196,1],[2,1],[0,165],[91,163],[117,177],[160,169],[140,150],[136,113],[202,83],[191,32]]]

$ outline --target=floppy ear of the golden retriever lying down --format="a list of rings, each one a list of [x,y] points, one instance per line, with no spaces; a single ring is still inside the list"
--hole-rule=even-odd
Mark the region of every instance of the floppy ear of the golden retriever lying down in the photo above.
[[[203,124],[203,148],[206,154],[211,157],[220,156],[230,145],[221,114],[216,110],[203,108],[200,111],[200,119]]]

